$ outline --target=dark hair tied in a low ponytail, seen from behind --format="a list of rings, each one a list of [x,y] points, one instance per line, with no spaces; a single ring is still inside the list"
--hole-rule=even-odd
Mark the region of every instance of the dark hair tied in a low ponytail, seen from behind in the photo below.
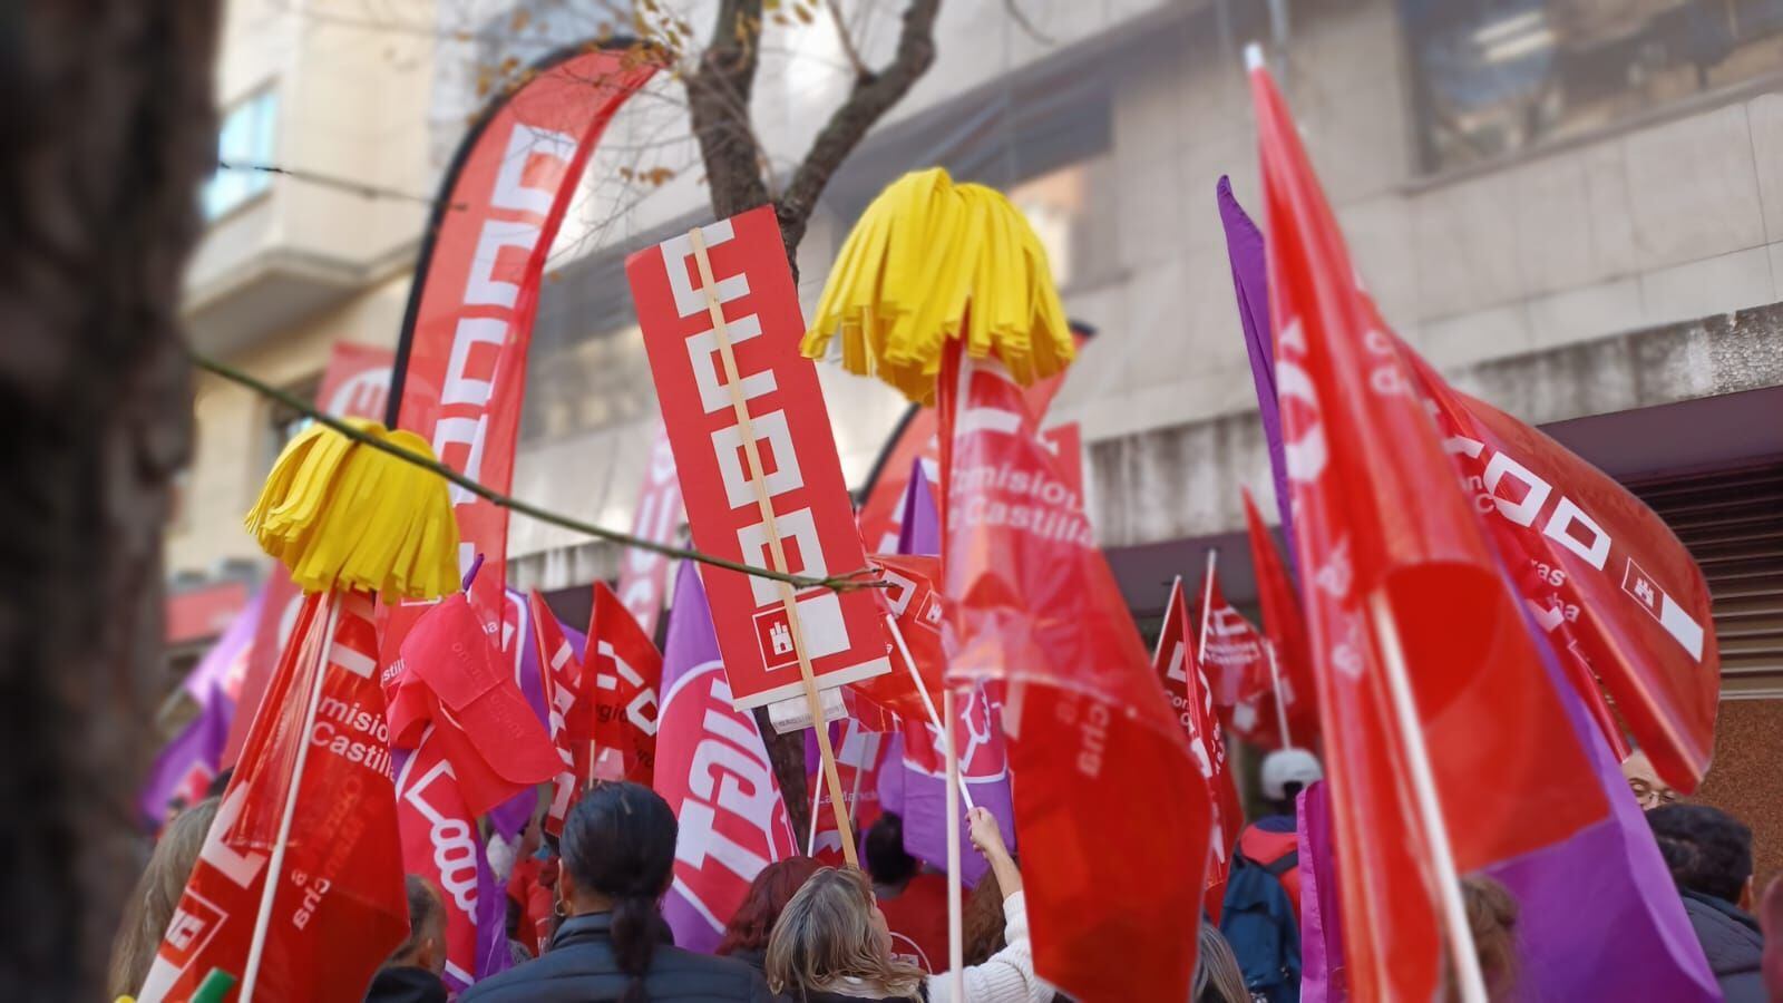
[[[563,867],[576,887],[613,899],[613,958],[631,976],[622,1003],[644,1003],[644,974],[667,935],[656,899],[674,876],[669,803],[637,783],[599,783],[563,819]]]

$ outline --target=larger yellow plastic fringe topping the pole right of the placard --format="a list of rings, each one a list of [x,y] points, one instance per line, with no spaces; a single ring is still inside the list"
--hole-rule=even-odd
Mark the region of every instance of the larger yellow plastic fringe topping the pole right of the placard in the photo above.
[[[1002,193],[911,171],[867,207],[836,255],[801,350],[820,359],[842,334],[842,364],[913,402],[934,400],[941,348],[995,353],[1022,384],[1072,362],[1075,346],[1039,237]]]

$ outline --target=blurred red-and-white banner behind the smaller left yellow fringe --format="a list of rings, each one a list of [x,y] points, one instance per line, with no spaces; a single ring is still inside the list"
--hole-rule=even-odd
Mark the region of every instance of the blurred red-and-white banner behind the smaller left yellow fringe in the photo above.
[[[383,348],[337,341],[328,350],[328,368],[323,369],[323,382],[316,389],[316,407],[335,418],[382,418],[390,393],[394,359],[396,355]],[[260,625],[253,632],[253,646],[248,650],[235,694],[235,716],[223,744],[223,766],[234,766],[241,755],[248,726],[253,725],[260,698],[266,696],[266,684],[273,678],[273,664],[291,639],[291,626],[298,621],[301,605],[303,593],[289,575],[275,571],[267,576],[266,598],[260,600]]]

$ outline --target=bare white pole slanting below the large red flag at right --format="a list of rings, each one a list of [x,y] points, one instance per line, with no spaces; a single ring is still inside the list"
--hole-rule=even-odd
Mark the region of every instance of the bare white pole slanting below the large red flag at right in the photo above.
[[[1444,823],[1442,805],[1437,801],[1435,775],[1430,769],[1430,750],[1425,746],[1425,730],[1417,723],[1417,705],[1412,700],[1405,651],[1400,648],[1400,628],[1393,619],[1393,609],[1387,607],[1385,593],[1376,591],[1368,596],[1368,612],[1375,621],[1375,637],[1380,642],[1380,660],[1385,667],[1387,692],[1393,696],[1400,741],[1405,746],[1405,764],[1412,775],[1417,816],[1425,823],[1425,842],[1430,846],[1430,864],[1435,869],[1437,894],[1442,899],[1442,924],[1448,933],[1450,955],[1455,960],[1460,998],[1462,1003],[1487,1003],[1485,976],[1480,973],[1480,955],[1473,942],[1473,928],[1467,926],[1467,908],[1462,903],[1460,875],[1455,869],[1455,853],[1450,848],[1448,823]]]

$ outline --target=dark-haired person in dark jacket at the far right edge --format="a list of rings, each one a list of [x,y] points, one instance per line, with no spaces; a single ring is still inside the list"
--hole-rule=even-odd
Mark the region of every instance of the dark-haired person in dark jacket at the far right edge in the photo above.
[[[1722,996],[1728,1003],[1763,1003],[1765,939],[1746,908],[1753,901],[1753,830],[1708,805],[1653,808],[1647,825]]]

